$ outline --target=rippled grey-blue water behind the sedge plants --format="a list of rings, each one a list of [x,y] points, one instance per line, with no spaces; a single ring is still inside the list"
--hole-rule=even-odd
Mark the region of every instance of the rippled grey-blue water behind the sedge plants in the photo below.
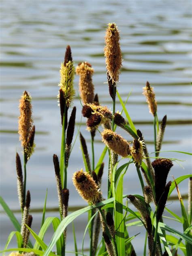
[[[153,139],[153,117],[149,114],[142,87],[149,81],[155,87],[158,100],[158,117],[167,114],[162,150],[191,151],[191,20],[190,1],[145,0],[145,1],[1,1],[1,195],[11,209],[18,209],[15,152],[21,155],[21,145],[17,134],[18,100],[24,90],[33,98],[33,115],[36,126],[36,151],[28,162],[27,188],[31,192],[31,208],[42,207],[48,188],[47,207],[57,207],[58,199],[53,171],[53,154],[60,155],[61,125],[60,109],[57,106],[59,68],[63,61],[66,45],[70,44],[73,59],[77,65],[81,61],[90,62],[95,70],[95,92],[101,104],[112,107],[106,79],[105,58],[103,56],[104,36],[107,23],[115,21],[121,31],[123,68],[118,90],[125,100],[130,90],[128,111],[136,128],[139,128],[149,142],[149,151],[154,151],[150,143]],[[75,78],[76,96],[78,77]],[[77,123],[81,121],[81,105],[78,97]],[[121,110],[119,103],[117,110]],[[88,141],[90,134],[85,130],[85,119],[81,132]],[[151,122],[151,124],[150,124]],[[77,134],[77,127],[75,130]],[[128,141],[131,138],[118,130]],[[96,141],[100,135],[96,135]],[[96,143],[96,160],[103,149]],[[188,155],[162,153],[162,156],[186,160],[181,168],[177,163],[170,172],[178,177],[190,173],[191,158]],[[107,159],[105,160],[107,166]],[[75,191],[71,176],[83,167],[79,140],[73,149],[68,168],[68,188],[70,206],[86,205]],[[107,182],[107,167],[103,185]],[[179,185],[181,194],[187,193],[187,181]],[[106,186],[102,186],[106,196]],[[134,166],[124,180],[124,194],[141,193]],[[176,192],[175,192],[176,193]],[[174,193],[174,194],[175,194]],[[178,203],[169,202],[169,208],[181,215]],[[185,202],[187,203],[187,202]],[[47,213],[47,216],[58,213]],[[166,215],[168,215],[166,213]],[[19,214],[16,214],[20,218]],[[32,228],[38,233],[41,214],[33,213]],[[182,231],[174,222],[167,222]],[[78,248],[81,248],[87,216],[75,222]],[[4,247],[13,225],[1,213],[1,248]],[[139,230],[139,231],[138,231]],[[141,232],[133,244],[137,245],[137,255],[143,252],[144,231],[129,228],[130,235]],[[49,243],[53,232],[45,237]],[[138,243],[139,241],[139,243]],[[138,244],[140,246],[138,246]],[[16,246],[14,240],[10,246]],[[85,247],[88,247],[85,239]],[[71,226],[68,228],[67,249],[74,250]]]

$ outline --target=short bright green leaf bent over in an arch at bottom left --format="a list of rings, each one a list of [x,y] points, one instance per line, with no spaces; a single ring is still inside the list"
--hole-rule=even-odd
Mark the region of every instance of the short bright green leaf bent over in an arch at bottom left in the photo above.
[[[41,228],[41,230],[40,230],[40,232],[38,234],[38,237],[40,239],[43,240],[44,235],[45,235],[47,229],[49,228],[50,224],[52,224],[53,230],[56,231],[56,229],[58,228],[58,226],[60,224],[60,219],[57,218],[57,217],[48,217],[45,220],[45,222],[44,222],[44,224],[43,224],[43,226],[42,226],[42,228]],[[63,249],[63,246],[64,246],[64,236],[63,236],[63,233],[60,236],[60,239],[58,239],[58,241],[56,243],[56,246],[57,246],[58,254],[62,254],[62,249]],[[40,248],[40,245],[36,242],[35,245],[34,245],[34,249],[38,250],[39,248]]]

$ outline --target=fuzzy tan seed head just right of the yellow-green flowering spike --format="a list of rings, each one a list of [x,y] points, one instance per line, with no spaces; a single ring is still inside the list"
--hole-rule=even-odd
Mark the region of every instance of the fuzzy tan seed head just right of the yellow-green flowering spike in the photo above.
[[[94,69],[88,62],[81,62],[76,68],[76,74],[79,75],[79,91],[83,104],[93,103],[94,101],[94,85],[92,83],[92,75]]]

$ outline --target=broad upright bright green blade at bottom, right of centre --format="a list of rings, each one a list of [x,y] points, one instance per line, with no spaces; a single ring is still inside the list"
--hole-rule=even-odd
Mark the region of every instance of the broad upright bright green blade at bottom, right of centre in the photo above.
[[[117,243],[117,252],[125,255],[125,229],[124,229],[124,215],[123,215],[123,173],[119,179],[117,190],[115,194],[115,241]]]

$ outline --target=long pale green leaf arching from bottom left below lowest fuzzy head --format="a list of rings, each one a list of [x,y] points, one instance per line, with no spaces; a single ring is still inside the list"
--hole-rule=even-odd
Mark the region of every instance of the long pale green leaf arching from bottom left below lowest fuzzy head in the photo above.
[[[125,198],[125,196],[123,196],[123,198]],[[62,220],[62,222],[60,223],[60,225],[58,226],[57,230],[55,231],[51,242],[49,243],[49,246],[47,248],[47,250],[45,251],[45,256],[49,255],[49,252],[51,252],[53,246],[55,245],[55,243],[58,241],[58,239],[60,238],[60,236],[62,235],[63,231],[65,230],[65,228],[68,226],[68,224],[70,224],[73,220],[75,220],[79,215],[90,211],[91,209],[95,209],[97,207],[102,207],[108,203],[111,203],[114,201],[114,198],[109,198],[105,201],[102,201],[100,203],[97,203],[96,205],[90,205],[87,207],[84,207],[78,211],[74,211],[73,213],[69,214],[66,218],[64,218],[64,220]]]

